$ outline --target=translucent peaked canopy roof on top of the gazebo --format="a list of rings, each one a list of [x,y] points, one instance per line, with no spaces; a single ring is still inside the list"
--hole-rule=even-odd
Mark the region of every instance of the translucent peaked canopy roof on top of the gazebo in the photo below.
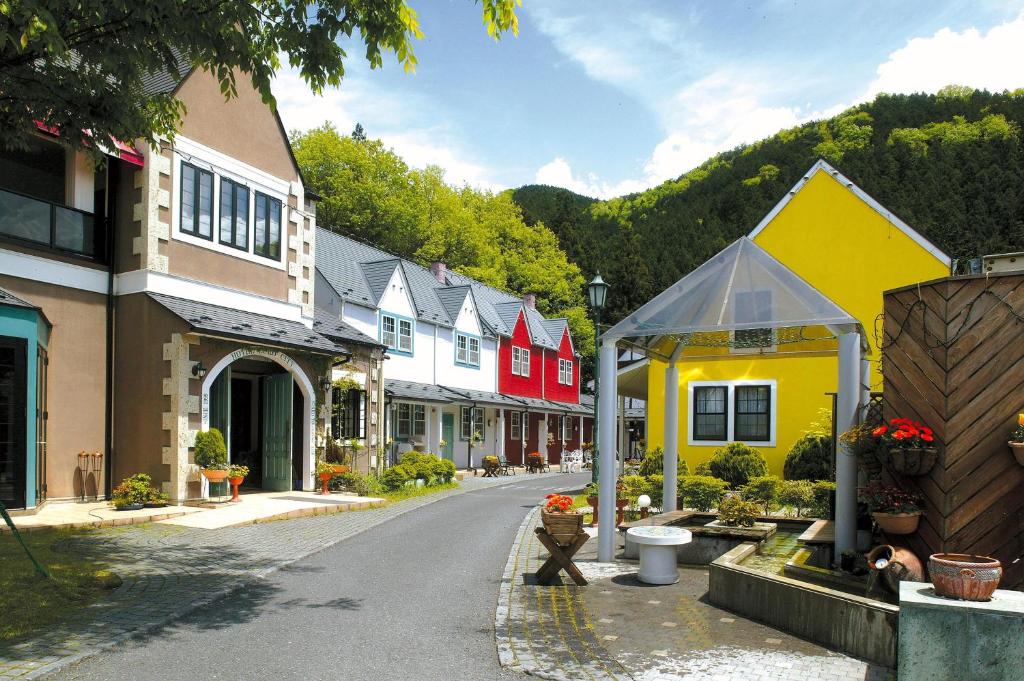
[[[858,322],[746,237],[602,334],[632,339],[783,329],[856,328]]]

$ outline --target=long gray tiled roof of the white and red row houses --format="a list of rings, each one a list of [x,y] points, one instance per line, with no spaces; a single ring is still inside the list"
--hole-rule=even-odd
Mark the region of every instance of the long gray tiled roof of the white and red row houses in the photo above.
[[[380,295],[374,292],[368,276],[364,275],[366,265],[394,260],[397,258],[393,254],[354,239],[324,227],[316,230],[316,268],[341,298],[357,305],[376,307],[380,300]],[[452,270],[447,271],[445,282],[442,284],[422,265],[410,260],[400,260],[400,263],[409,281],[418,320],[442,327],[455,326],[456,318],[452,315],[456,314],[457,317],[458,312],[450,309],[451,298],[442,299],[438,292],[469,287],[476,301],[477,312],[485,327],[501,336],[512,335],[516,316],[522,309],[522,300],[517,296]],[[390,272],[388,275],[390,276]],[[386,282],[381,286],[386,286]],[[460,300],[459,304],[461,303]],[[552,339],[544,322],[544,316],[537,310],[527,316],[534,342],[542,347],[557,348],[561,337]]]

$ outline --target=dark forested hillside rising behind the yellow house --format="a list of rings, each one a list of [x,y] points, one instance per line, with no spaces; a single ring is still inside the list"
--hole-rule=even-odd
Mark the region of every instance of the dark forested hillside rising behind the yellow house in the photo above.
[[[1024,250],[1022,125],[1024,90],[880,95],[640,194],[595,201],[528,185],[512,196],[586,276],[600,269],[617,320],[748,233],[819,158],[953,258]]]

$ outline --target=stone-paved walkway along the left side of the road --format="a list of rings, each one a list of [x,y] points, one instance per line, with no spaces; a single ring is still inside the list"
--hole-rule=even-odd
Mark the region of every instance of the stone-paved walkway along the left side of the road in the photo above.
[[[37,637],[0,643],[0,680],[43,676],[403,513],[453,495],[514,481],[470,477],[458,490],[383,508],[241,527],[130,525],[61,540],[57,550],[98,557],[124,583],[106,599]]]

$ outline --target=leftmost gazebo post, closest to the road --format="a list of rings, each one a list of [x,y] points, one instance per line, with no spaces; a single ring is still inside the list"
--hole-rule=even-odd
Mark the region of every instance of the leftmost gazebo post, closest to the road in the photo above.
[[[597,409],[600,468],[598,480],[597,560],[610,563],[615,555],[615,385],[616,349],[613,340],[601,342],[601,391]]]

